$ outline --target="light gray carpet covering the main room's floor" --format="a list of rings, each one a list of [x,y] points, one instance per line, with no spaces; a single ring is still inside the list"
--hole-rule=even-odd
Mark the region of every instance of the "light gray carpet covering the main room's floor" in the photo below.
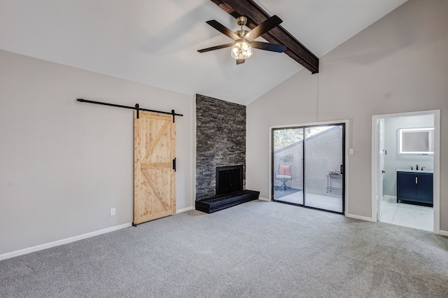
[[[448,297],[448,239],[251,201],[0,262],[0,297]]]

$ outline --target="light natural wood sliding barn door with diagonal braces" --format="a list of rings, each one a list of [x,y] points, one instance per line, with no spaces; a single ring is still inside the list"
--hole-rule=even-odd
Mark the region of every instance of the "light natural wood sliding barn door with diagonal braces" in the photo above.
[[[134,111],[134,225],[176,213],[172,115]]]

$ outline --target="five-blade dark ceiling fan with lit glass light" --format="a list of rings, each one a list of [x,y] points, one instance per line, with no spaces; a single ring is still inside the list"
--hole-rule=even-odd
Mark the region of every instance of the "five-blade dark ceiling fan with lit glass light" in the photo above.
[[[211,27],[214,27],[216,30],[220,31],[222,34],[232,38],[234,43],[225,43],[224,45],[216,45],[211,48],[205,48],[202,50],[197,50],[197,52],[209,52],[211,50],[219,50],[222,48],[232,47],[230,51],[230,55],[237,59],[237,64],[244,63],[244,61],[252,56],[252,48],[260,49],[260,50],[269,50],[271,52],[283,52],[286,50],[285,45],[277,45],[276,43],[265,43],[262,41],[254,41],[255,38],[258,38],[262,34],[265,34],[270,29],[277,27],[281,22],[283,22],[280,17],[276,15],[272,15],[267,20],[259,24],[257,27],[253,28],[251,31],[246,31],[243,29],[243,26],[246,24],[246,17],[238,17],[237,24],[241,26],[241,29],[233,32],[232,30],[225,27],[223,24],[216,20],[207,21]]]

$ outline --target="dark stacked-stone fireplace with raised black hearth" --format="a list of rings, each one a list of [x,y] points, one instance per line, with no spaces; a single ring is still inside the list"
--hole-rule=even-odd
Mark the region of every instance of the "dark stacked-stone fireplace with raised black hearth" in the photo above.
[[[246,106],[196,94],[196,209],[258,199],[246,188]]]

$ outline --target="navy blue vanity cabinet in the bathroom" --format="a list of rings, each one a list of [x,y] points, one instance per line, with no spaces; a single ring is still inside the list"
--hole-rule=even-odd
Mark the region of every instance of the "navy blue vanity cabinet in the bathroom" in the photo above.
[[[397,171],[398,201],[433,204],[433,174]]]

